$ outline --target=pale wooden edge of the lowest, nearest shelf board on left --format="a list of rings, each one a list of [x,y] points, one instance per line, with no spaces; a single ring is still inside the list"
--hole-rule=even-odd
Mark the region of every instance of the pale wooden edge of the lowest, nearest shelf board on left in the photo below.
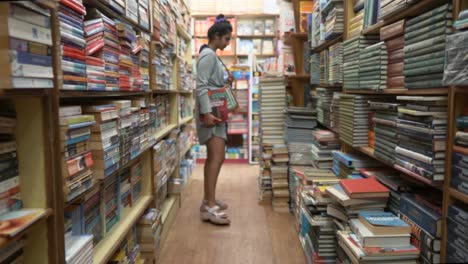
[[[121,220],[112,228],[109,234],[107,234],[93,249],[93,263],[106,263],[112,257],[115,250],[119,247],[120,242],[136,224],[140,216],[151,203],[152,199],[153,197],[151,195],[140,197],[139,201],[131,208],[128,215],[122,217]]]

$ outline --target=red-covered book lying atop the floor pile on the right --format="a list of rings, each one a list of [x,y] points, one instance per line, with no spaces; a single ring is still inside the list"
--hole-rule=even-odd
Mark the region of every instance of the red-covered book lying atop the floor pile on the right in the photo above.
[[[350,198],[385,198],[390,195],[390,190],[374,178],[344,179],[340,185]]]

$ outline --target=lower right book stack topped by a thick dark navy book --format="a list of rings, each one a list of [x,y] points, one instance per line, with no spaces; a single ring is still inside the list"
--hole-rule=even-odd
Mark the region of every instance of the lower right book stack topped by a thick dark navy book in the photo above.
[[[440,259],[441,201],[442,197],[437,193],[431,193],[430,197],[409,193],[401,195],[400,218],[411,226],[411,244],[421,251],[420,263],[440,263],[442,261]],[[466,251],[465,248],[464,250]],[[461,254],[463,255],[463,253]]]

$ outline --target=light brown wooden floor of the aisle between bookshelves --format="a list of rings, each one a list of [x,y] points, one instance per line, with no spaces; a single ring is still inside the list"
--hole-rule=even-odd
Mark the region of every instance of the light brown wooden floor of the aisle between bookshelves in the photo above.
[[[203,165],[197,165],[188,194],[162,246],[162,264],[303,264],[293,216],[257,202],[258,166],[223,166],[217,198],[225,200],[231,225],[200,221]]]

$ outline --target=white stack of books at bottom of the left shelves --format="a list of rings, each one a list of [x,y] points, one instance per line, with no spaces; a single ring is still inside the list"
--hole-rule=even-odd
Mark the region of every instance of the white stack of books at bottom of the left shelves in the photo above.
[[[65,262],[67,264],[93,262],[93,236],[70,235],[65,239]]]

